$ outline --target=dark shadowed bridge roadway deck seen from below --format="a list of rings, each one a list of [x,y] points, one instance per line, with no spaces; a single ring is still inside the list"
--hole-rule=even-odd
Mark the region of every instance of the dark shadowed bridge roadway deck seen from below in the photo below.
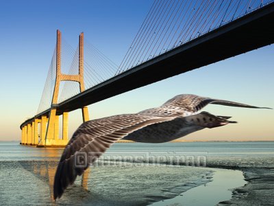
[[[271,3],[57,104],[57,115],[271,45],[274,43],[273,24],[274,3]],[[48,113],[45,111],[36,117]],[[32,119],[21,126],[32,122]]]

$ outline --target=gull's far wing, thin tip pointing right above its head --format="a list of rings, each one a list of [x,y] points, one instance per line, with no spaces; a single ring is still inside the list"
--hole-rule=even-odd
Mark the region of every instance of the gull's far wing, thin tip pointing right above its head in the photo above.
[[[171,100],[168,100],[166,103],[164,103],[162,107],[177,106],[179,108],[184,109],[185,111],[190,111],[194,113],[201,110],[201,108],[205,107],[208,104],[221,104],[225,106],[238,106],[238,107],[245,107],[245,108],[268,108],[268,107],[251,106],[249,104],[242,104],[242,103],[231,102],[227,100],[218,100],[213,98],[200,97],[198,95],[191,95],[191,94],[177,95]]]

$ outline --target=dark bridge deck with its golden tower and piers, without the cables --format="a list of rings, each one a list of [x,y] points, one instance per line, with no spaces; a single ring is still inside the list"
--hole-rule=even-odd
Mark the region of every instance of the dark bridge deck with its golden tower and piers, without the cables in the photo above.
[[[258,49],[274,43],[274,3],[241,16],[206,34],[170,49],[140,65],[101,82],[82,92],[58,103],[54,99],[51,108],[27,119],[20,126],[22,130],[21,144],[38,146],[64,146],[68,141],[66,116],[70,111],[82,108],[83,121],[88,120],[88,106],[95,102],[111,98],[114,95],[125,93],[147,84],[164,80],[166,78],[191,71],[220,60],[225,60],[253,49]],[[60,35],[58,33],[58,35]],[[81,38],[81,37],[80,37]],[[84,37],[83,37],[84,38]],[[57,42],[60,44],[60,36]],[[79,41],[79,45],[81,45]],[[79,48],[83,48],[80,46]],[[79,62],[83,61],[79,49]],[[57,54],[58,55],[58,54]],[[60,54],[59,57],[60,58]],[[60,66],[56,66],[56,69]],[[77,82],[81,84],[81,63]],[[55,92],[58,91],[61,80],[72,80],[72,76],[56,76]],[[82,83],[84,84],[84,83]],[[58,95],[58,94],[57,94]],[[63,115],[63,138],[58,139],[59,115]],[[40,137],[38,137],[38,124],[40,124]],[[39,140],[40,139],[40,140]]]

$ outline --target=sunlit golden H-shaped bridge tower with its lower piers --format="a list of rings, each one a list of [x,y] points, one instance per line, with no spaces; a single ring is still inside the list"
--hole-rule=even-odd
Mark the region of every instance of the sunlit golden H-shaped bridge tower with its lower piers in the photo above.
[[[64,74],[61,71],[61,32],[57,30],[57,44],[56,44],[56,78],[55,87],[53,90],[53,98],[51,102],[51,109],[49,115],[42,116],[40,119],[40,142],[38,145],[34,142],[33,145],[37,147],[60,147],[66,146],[69,141],[68,136],[68,117],[69,113],[62,113],[62,139],[59,139],[59,115],[56,113],[56,105],[58,104],[58,94],[60,82],[74,81],[79,82],[80,91],[84,91],[84,33],[79,35],[79,73],[76,75]],[[89,120],[88,107],[82,108],[83,122]],[[38,121],[36,121],[38,122]],[[34,123],[34,131],[38,124]],[[25,135],[24,135],[25,136]],[[35,132],[34,132],[35,141]]]

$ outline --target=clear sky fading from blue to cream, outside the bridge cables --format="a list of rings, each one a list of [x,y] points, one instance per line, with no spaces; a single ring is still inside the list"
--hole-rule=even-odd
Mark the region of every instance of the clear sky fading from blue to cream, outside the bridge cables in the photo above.
[[[20,124],[38,109],[56,30],[72,47],[78,35],[119,65],[153,1],[1,1],[0,140],[20,140]],[[205,54],[206,55],[206,54]],[[274,45],[216,62],[89,105],[91,119],[160,106],[182,93],[274,108]],[[184,137],[202,141],[274,141],[274,110],[209,105],[238,121]],[[81,124],[69,113],[69,135]]]

